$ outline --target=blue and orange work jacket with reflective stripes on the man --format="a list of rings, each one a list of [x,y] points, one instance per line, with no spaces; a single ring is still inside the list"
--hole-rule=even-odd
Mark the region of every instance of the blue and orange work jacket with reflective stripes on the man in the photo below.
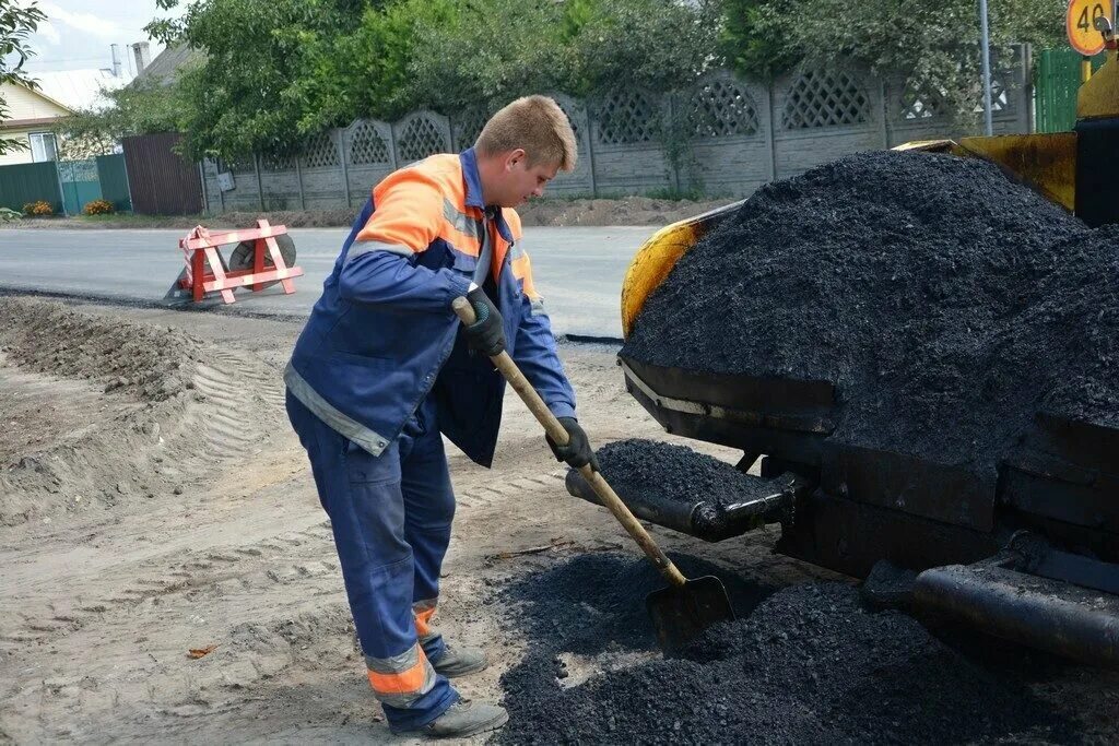
[[[473,149],[432,155],[374,188],[295,342],[284,372],[291,393],[374,455],[431,393],[443,433],[488,466],[505,379],[468,353],[451,311],[474,276],[483,238],[509,353],[556,416],[575,416],[520,218],[485,208]]]

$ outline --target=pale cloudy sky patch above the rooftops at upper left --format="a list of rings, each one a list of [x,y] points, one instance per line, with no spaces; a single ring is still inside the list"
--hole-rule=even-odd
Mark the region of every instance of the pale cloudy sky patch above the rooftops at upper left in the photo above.
[[[156,0],[36,0],[36,4],[47,15],[47,22],[30,39],[38,53],[25,65],[31,73],[112,67],[112,44],[121,45],[124,70],[134,73],[128,45],[148,41],[152,59],[163,49],[143,31],[153,18],[169,16],[156,7]],[[171,15],[181,12],[180,8]]]

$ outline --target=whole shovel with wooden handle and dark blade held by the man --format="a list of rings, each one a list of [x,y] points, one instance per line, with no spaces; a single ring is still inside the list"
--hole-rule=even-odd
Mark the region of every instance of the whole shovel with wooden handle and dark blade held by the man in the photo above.
[[[473,324],[474,310],[464,298],[458,298],[451,304],[454,313],[464,324]],[[509,353],[501,350],[490,358],[490,361],[501,371],[513,389],[544,426],[544,431],[555,443],[567,444],[567,431],[547,408],[540,395],[536,393],[525,375],[517,368]],[[611,489],[602,474],[591,469],[590,464],[581,466],[579,473],[591,485],[610,512],[614,514],[622,528],[637,541],[646,556],[657,566],[669,585],[667,588],[653,591],[646,597],[645,606],[652,620],[657,640],[661,649],[669,655],[683,649],[704,629],[717,622],[733,622],[734,610],[726,595],[722,580],[713,575],[688,579],[673,564],[657,542],[652,540],[645,527],[633,517],[621,498]]]

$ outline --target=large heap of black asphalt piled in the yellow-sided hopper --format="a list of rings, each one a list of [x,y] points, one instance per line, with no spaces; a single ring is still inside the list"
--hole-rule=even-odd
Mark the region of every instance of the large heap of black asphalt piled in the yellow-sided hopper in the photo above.
[[[985,161],[876,152],[759,190],[677,263],[622,353],[831,381],[833,437],[993,479],[1040,409],[1115,421],[1117,339],[1119,228]]]

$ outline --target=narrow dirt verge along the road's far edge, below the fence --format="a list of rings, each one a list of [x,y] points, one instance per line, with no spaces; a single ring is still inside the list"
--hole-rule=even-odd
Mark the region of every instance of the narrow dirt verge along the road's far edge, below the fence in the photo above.
[[[620,197],[614,199],[534,199],[517,208],[526,226],[613,226],[613,225],[668,225],[700,213],[722,207],[733,198],[711,200],[670,200],[651,197]],[[182,228],[190,229],[204,223],[210,228],[241,228],[265,217],[272,225],[289,228],[328,228],[349,226],[357,210],[275,210],[271,213],[242,211],[207,216],[78,216],[54,218],[25,218],[0,223],[0,228]]]

